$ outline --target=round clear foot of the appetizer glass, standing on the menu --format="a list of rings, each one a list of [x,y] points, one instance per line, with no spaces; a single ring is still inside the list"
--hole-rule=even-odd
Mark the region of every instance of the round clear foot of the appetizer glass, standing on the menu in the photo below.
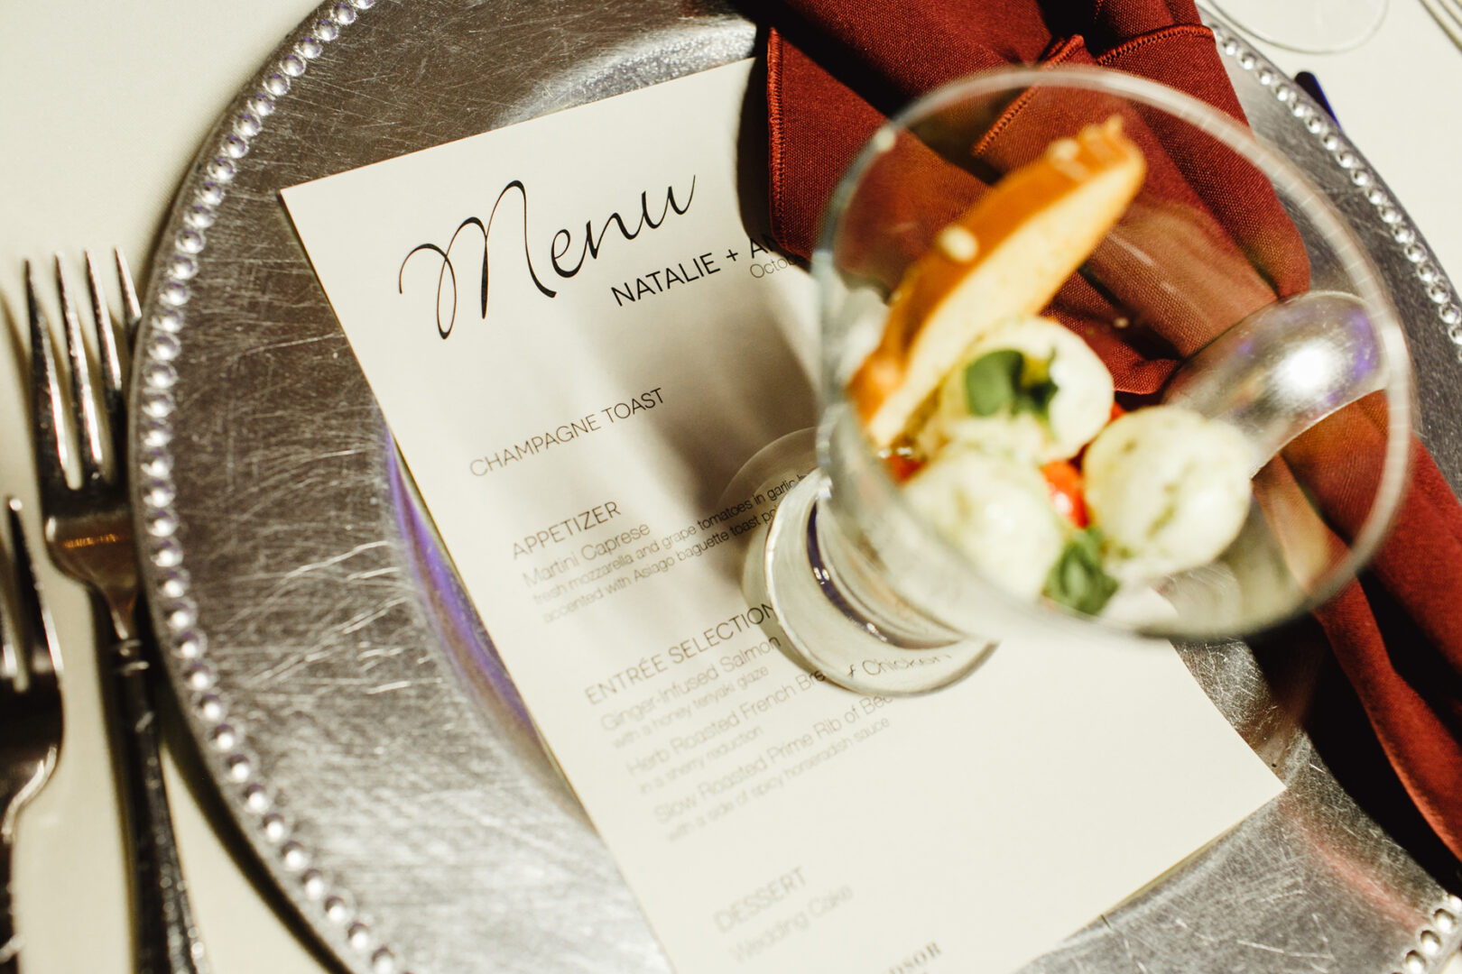
[[[747,600],[776,610],[788,657],[848,689],[905,697],[963,679],[997,643],[940,626],[882,583],[820,508],[829,482],[811,432],[770,444],[734,480],[746,495],[763,485],[785,491],[775,517],[750,539]]]

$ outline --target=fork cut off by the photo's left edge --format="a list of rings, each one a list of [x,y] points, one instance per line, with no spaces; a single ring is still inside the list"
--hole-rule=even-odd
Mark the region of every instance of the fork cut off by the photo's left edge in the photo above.
[[[10,911],[10,847],[20,809],[45,787],[61,751],[61,657],[31,570],[20,502],[6,501],[0,532],[0,973],[16,970],[20,939]]]

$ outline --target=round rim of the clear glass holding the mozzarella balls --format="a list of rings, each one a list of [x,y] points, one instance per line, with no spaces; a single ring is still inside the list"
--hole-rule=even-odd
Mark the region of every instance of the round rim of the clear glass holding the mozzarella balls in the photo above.
[[[1237,152],[1250,165],[1259,169],[1276,190],[1306,204],[1307,219],[1310,219],[1314,229],[1336,248],[1336,253],[1341,257],[1342,270],[1351,276],[1351,283],[1358,291],[1355,296],[1363,301],[1367,312],[1370,314],[1377,340],[1382,345],[1387,362],[1386,384],[1382,390],[1379,390],[1386,397],[1387,415],[1386,448],[1376,496],[1367,511],[1366,521],[1351,539],[1347,555],[1330,565],[1317,581],[1304,586],[1306,597],[1298,600],[1292,607],[1282,613],[1275,613],[1272,618],[1240,619],[1237,625],[1225,631],[1199,631],[1196,628],[1184,629],[1181,626],[1121,625],[1105,621],[1099,616],[1077,613],[1064,606],[1047,605],[1044,600],[1029,603],[1026,606],[1029,609],[1028,615],[1032,619],[1066,619],[1082,625],[1095,624],[1110,631],[1137,632],[1140,635],[1161,638],[1227,640],[1282,625],[1325,605],[1357,577],[1360,570],[1376,553],[1376,549],[1380,548],[1390,530],[1409,482],[1414,415],[1411,356],[1406,350],[1405,331],[1401,326],[1395,305],[1390,301],[1387,289],[1380,283],[1380,273],[1377,272],[1374,261],[1360,244],[1355,232],[1341,216],[1335,204],[1304,174],[1303,169],[1294,165],[1282,153],[1260,143],[1247,126],[1234,121],[1231,117],[1218,108],[1213,108],[1208,102],[1137,74],[1088,66],[1010,66],[993,69],[955,79],[911,101],[895,115],[889,117],[870,136],[870,139],[860,149],[858,155],[854,158],[854,162],[848,166],[848,171],[838,181],[838,185],[829,199],[827,207],[823,210],[822,226],[819,228],[817,242],[813,247],[811,254],[811,276],[817,288],[817,317],[823,336],[826,336],[827,323],[830,321],[833,312],[829,277],[836,279],[841,273],[833,258],[841,216],[846,210],[864,174],[873,162],[883,155],[885,149],[880,147],[880,143],[885,146],[890,145],[886,142],[887,136],[896,136],[901,131],[908,131],[912,129],[911,123],[937,114],[962,101],[996,92],[1007,92],[1016,88],[1076,88],[1096,93],[1118,95],[1139,105],[1165,111],[1170,115],[1194,126],[1200,131],[1215,137],[1231,150]],[[1237,321],[1234,324],[1237,324]],[[822,365],[823,419],[819,422],[817,450],[819,466],[829,469],[829,423],[835,421],[835,413],[838,412],[830,409],[830,406],[849,403],[841,381],[842,377],[833,374],[826,348],[822,352]],[[1320,422],[1325,421],[1322,419]],[[882,463],[877,463],[877,457],[874,456],[867,437],[858,437],[858,444],[864,454],[861,459],[868,461],[868,466],[877,467],[874,476],[880,483],[880,492],[886,495],[889,502],[896,505],[896,510],[904,514],[905,520],[921,529],[924,534],[923,540],[925,543],[939,545],[946,556],[953,558],[956,564],[963,564],[968,574],[978,578],[981,587],[987,588],[990,594],[1001,599],[1003,602],[1018,602],[997,584],[991,583],[985,574],[980,571],[980,568],[971,562],[963,552],[959,552],[942,532],[936,530],[924,517],[908,505],[902,492],[896,489],[896,485],[887,470]],[[836,485],[832,482],[830,486],[833,491],[836,489]],[[925,605],[924,607],[925,610],[934,610],[936,616],[940,615],[936,606]]]

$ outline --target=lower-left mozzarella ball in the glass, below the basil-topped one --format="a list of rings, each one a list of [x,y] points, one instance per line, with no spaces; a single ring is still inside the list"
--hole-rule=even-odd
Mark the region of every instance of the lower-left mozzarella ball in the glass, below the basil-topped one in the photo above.
[[[905,496],[991,583],[1035,600],[1066,545],[1069,524],[1028,464],[949,447],[905,485]]]

